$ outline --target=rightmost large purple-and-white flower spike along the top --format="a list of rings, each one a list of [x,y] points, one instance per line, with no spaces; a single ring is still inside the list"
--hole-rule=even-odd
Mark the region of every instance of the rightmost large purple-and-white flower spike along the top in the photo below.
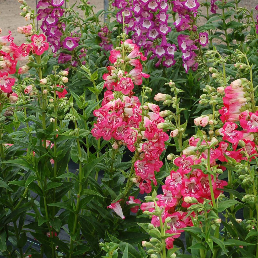
[[[186,72],[188,72],[190,68],[196,71],[198,68],[196,50],[201,46],[206,46],[208,43],[208,34],[204,32],[198,35],[197,26],[192,20],[196,16],[200,4],[197,0],[175,0],[172,1],[172,3],[173,11],[178,13],[178,19],[173,23],[176,30],[188,30],[191,32],[191,36],[179,34],[177,38],[179,50],[182,51],[183,67]]]

